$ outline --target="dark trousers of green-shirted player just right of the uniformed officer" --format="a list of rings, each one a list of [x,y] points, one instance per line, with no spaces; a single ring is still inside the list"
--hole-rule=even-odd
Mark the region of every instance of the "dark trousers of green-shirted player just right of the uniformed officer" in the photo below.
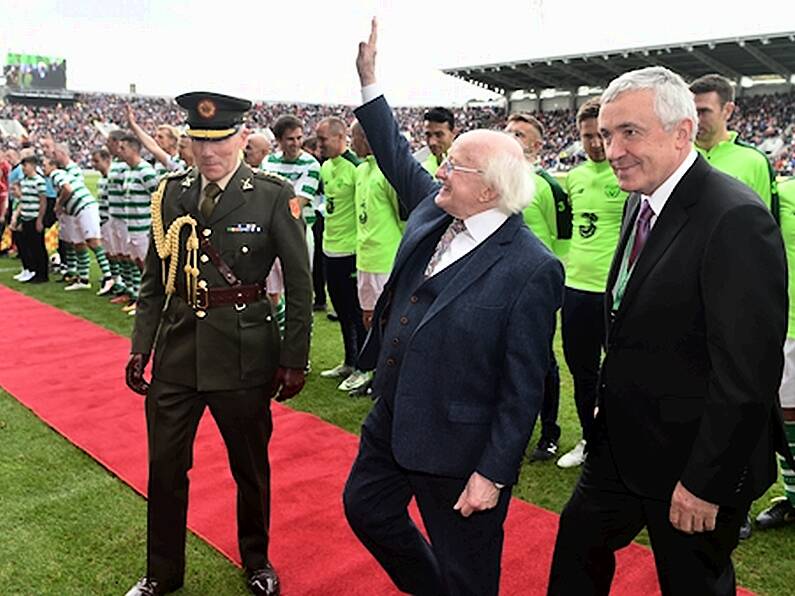
[[[366,332],[359,306],[356,287],[356,255],[347,257],[325,256],[326,283],[334,311],[340,319],[345,364],[356,365],[359,348],[364,344]]]

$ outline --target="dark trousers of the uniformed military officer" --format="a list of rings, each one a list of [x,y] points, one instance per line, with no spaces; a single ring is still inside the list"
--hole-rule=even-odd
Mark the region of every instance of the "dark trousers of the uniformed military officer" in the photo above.
[[[154,379],[146,397],[149,439],[147,575],[168,590],[182,585],[188,513],[188,470],[204,408],[209,407],[229,454],[237,484],[237,534],[243,566],[268,561],[273,430],[266,387],[197,392]]]

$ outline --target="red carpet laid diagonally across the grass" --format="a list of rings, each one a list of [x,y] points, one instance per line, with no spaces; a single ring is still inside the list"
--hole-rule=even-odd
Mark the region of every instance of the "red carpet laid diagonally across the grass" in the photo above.
[[[0,336],[5,355],[0,386],[145,494],[143,400],[123,381],[129,341],[2,285],[0,304],[5,320],[14,322]],[[358,438],[278,404],[273,404],[273,417],[271,558],[285,596],[397,594],[342,513],[340,495]],[[223,444],[207,415],[196,440],[188,524],[239,563],[234,503]],[[502,594],[545,593],[557,520],[554,513],[514,499],[506,524]],[[139,571],[130,570],[131,578]],[[647,549],[632,545],[621,551],[613,593],[659,594]]]

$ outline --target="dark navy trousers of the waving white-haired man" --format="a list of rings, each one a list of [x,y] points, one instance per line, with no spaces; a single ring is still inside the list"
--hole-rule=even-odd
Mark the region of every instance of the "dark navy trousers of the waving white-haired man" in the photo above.
[[[501,491],[494,509],[464,518],[453,505],[468,478],[402,468],[392,455],[391,429],[392,415],[379,399],[362,427],[359,454],[343,494],[351,529],[404,592],[496,595],[510,488]],[[409,517],[412,497],[430,542]]]

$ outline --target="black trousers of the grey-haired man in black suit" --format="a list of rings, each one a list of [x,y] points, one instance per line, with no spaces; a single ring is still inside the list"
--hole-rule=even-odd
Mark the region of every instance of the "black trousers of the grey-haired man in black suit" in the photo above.
[[[669,501],[645,498],[626,488],[605,435],[598,434],[560,516],[548,594],[607,596],[615,551],[627,546],[645,526],[664,596],[733,596],[731,552],[750,503],[721,506],[712,532],[680,532],[668,521]],[[649,473],[654,473],[653,468]]]

